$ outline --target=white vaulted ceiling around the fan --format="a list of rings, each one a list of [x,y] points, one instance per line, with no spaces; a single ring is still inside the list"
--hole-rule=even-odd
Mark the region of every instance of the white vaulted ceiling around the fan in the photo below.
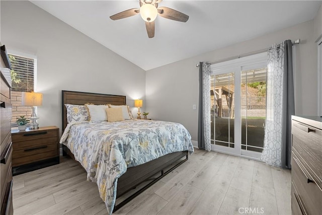
[[[158,16],[151,39],[140,15],[116,21],[109,18],[138,8],[138,0],[31,2],[149,70],[311,20],[322,1],[164,0],[159,7],[185,13],[189,20],[182,23]]]

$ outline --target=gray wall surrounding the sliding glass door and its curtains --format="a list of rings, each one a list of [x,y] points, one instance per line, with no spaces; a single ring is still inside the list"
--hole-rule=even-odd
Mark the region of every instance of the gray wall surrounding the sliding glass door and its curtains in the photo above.
[[[301,44],[296,45],[295,53],[296,114],[316,115],[317,46],[313,38],[313,20],[146,71],[146,110],[151,118],[182,123],[192,139],[197,140],[199,81],[196,63],[248,53],[298,38]],[[192,108],[194,104],[196,110]]]

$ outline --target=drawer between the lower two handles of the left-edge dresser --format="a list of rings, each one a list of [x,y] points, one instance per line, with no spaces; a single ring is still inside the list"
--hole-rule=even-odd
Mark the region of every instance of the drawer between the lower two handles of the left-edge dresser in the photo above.
[[[7,147],[6,149],[6,159],[5,157],[2,157],[2,162],[1,162],[1,168],[0,168],[0,180],[1,180],[1,202],[3,202],[4,198],[5,198],[5,192],[3,192],[4,190],[6,190],[7,184],[9,181],[11,181],[12,179],[12,172],[11,172],[11,158],[12,158],[12,145],[10,143],[10,145]],[[4,164],[4,160],[6,160],[6,164]]]

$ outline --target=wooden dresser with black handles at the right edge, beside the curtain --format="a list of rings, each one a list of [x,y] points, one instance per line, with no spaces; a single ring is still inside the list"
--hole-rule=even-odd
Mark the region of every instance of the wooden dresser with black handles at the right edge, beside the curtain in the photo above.
[[[292,116],[292,214],[322,214],[322,117]]]

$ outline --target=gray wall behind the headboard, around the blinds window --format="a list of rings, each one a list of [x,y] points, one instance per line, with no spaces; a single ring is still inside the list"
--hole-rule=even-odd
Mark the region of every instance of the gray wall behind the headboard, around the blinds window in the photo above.
[[[28,1],[1,1],[1,42],[37,56],[40,126],[61,127],[61,90],[144,99],[143,69]]]

